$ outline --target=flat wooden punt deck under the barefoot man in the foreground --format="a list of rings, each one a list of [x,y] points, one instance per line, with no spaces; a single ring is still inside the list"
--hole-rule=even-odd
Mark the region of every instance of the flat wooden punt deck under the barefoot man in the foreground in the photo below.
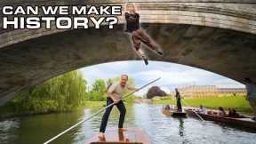
[[[95,134],[85,144],[151,144],[148,135],[138,128],[109,129],[105,132],[105,138],[99,138]]]

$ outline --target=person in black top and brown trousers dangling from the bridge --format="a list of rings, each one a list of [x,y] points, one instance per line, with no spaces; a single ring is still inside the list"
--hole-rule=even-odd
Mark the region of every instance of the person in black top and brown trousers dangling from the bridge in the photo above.
[[[128,9],[128,11],[127,11]],[[143,42],[148,45],[150,49],[157,52],[159,55],[163,55],[161,49],[158,48],[156,43],[148,37],[148,35],[140,28],[140,14],[137,11],[136,5],[128,6],[124,5],[125,20],[126,20],[126,32],[132,35],[132,43],[136,52],[142,58],[146,65],[148,65],[148,58],[145,53],[140,49],[140,44]]]

